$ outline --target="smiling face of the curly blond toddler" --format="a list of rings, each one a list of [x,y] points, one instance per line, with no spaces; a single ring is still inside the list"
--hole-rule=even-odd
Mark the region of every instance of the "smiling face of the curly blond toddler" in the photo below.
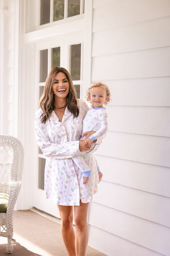
[[[102,87],[92,87],[89,96],[89,101],[92,103],[92,107],[103,107],[103,104],[108,100],[106,90]]]

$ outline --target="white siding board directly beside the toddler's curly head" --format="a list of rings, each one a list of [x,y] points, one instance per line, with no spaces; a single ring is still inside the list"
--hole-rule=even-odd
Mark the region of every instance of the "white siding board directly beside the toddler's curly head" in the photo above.
[[[103,82],[110,87],[112,94],[112,102],[108,106],[170,106],[170,77]]]

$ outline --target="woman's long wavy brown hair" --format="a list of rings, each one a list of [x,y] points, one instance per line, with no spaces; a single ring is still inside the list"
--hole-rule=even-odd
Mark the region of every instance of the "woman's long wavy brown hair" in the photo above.
[[[69,82],[69,93],[67,94],[67,108],[74,115],[78,117],[79,109],[77,106],[76,100],[76,90],[74,88],[71,75],[64,68],[55,67],[49,72],[47,79],[45,81],[45,88],[43,94],[40,98],[40,107],[42,108],[41,122],[45,123],[51,112],[55,109],[54,106],[54,94],[53,94],[53,80],[59,72],[62,72],[66,75]]]

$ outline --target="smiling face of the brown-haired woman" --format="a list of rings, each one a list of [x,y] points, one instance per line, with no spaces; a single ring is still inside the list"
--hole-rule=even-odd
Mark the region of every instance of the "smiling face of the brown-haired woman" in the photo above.
[[[59,72],[56,74],[53,80],[53,92],[55,99],[67,98],[67,94],[69,93],[69,81],[65,73]]]

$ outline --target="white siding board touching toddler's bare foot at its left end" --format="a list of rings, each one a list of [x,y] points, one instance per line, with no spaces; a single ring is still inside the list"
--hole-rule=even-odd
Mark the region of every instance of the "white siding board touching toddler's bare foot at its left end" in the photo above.
[[[98,152],[95,156],[103,181],[170,197],[170,168],[98,155]]]

